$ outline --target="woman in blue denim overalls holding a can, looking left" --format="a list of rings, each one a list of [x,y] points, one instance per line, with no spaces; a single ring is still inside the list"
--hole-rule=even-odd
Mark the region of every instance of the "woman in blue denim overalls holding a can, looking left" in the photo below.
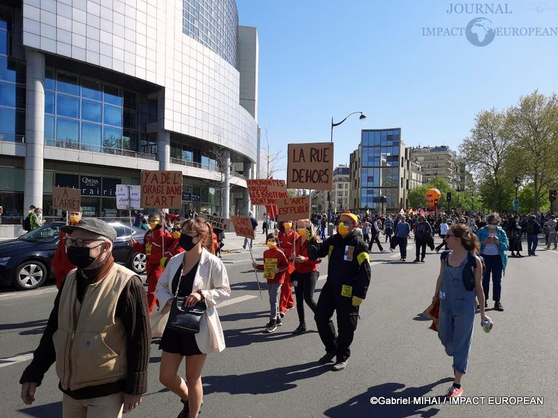
[[[463,270],[467,268],[469,253],[475,254],[480,247],[478,238],[469,226],[455,224],[446,233],[446,243],[451,252],[441,257],[436,293],[432,300],[439,298],[438,336],[446,353],[453,357],[455,380],[448,390],[448,396],[460,396],[463,393],[461,378],[467,369],[473,339],[475,296],[481,310],[481,325],[482,320],[488,316],[484,311],[482,265],[477,256],[476,267],[473,270],[474,289],[468,291],[463,282]]]

